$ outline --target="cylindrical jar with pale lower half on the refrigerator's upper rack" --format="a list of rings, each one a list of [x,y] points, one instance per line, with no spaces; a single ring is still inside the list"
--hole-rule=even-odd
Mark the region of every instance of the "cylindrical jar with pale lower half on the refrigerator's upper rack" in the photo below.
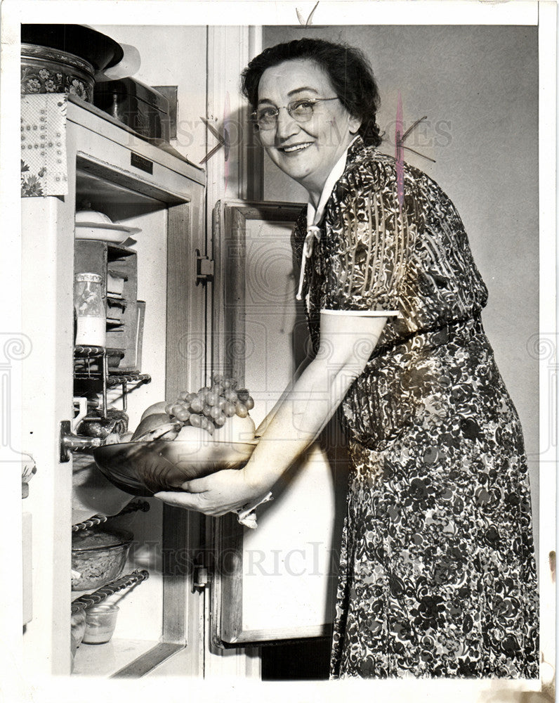
[[[107,323],[101,281],[99,273],[74,276],[76,344],[105,347]]]

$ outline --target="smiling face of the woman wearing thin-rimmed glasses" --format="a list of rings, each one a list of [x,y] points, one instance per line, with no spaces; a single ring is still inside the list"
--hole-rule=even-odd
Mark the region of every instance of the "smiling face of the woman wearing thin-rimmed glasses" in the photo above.
[[[258,84],[258,108],[284,108],[296,100],[334,97],[328,75],[308,59],[272,66]],[[280,109],[275,127],[261,129],[259,135],[275,165],[317,201],[332,167],[359,127],[360,120],[351,117],[340,100],[330,100],[316,103],[308,122],[297,122],[287,110]]]

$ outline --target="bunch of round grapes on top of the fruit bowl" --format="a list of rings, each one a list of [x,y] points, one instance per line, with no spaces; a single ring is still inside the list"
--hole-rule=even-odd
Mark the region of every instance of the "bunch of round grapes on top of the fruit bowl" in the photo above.
[[[204,386],[197,393],[180,392],[174,403],[166,404],[165,412],[183,425],[202,427],[210,434],[217,427],[223,427],[233,415],[246,418],[254,408],[249,391],[246,388],[235,390],[237,380],[218,373],[213,374],[211,380],[211,386]]]

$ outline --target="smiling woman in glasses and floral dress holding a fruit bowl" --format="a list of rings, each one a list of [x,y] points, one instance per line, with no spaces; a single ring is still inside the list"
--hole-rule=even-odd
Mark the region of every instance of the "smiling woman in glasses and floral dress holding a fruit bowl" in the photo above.
[[[173,501],[221,515],[264,494],[340,408],[352,466],[331,676],[537,678],[522,428],[459,214],[376,149],[359,51],[272,46],[243,89],[263,148],[308,191],[292,244],[313,356],[244,469]]]

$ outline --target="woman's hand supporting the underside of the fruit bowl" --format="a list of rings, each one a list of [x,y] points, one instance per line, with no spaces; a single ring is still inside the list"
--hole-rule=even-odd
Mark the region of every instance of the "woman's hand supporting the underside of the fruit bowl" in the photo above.
[[[218,471],[201,479],[186,481],[180,488],[180,491],[159,491],[154,497],[176,508],[197,510],[218,517],[242,508],[268,492],[267,486],[249,484],[242,469]]]

